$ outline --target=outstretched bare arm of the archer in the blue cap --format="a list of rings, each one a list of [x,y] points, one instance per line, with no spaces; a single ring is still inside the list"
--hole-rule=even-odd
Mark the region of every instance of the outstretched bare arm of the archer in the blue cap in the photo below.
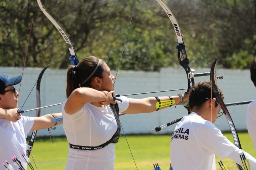
[[[40,117],[34,117],[34,125],[31,128],[31,130],[39,130],[39,129],[45,129],[45,128],[51,128],[56,125],[60,125],[63,123],[63,121],[53,122],[54,116],[56,118],[62,117],[62,113],[53,113],[53,114],[48,114]]]

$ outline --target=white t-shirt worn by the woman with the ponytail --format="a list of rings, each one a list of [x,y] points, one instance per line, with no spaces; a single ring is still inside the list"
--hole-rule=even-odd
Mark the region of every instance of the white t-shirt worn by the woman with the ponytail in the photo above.
[[[128,98],[120,97],[117,101],[119,112],[127,110]],[[66,101],[62,106],[63,128],[69,143],[80,146],[99,146],[107,142],[117,130],[116,119],[109,106],[96,107],[86,103],[73,115],[65,110]],[[79,150],[68,147],[68,161],[65,170],[114,170],[115,145],[96,150]]]

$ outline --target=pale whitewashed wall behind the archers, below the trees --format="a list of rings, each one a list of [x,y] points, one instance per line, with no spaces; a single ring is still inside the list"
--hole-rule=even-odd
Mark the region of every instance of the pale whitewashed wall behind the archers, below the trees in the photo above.
[[[19,108],[22,107],[32,87],[36,83],[37,77],[42,68],[25,68],[21,84]],[[207,69],[197,69],[196,73],[208,72]],[[0,67],[0,72],[12,77],[22,73],[22,68]],[[112,71],[115,75],[115,71]],[[219,87],[223,90],[225,103],[254,100],[256,90],[250,80],[249,70],[228,70],[218,69],[218,75],[223,75],[224,79],[218,81]],[[195,82],[209,80],[209,76],[195,77]],[[41,81],[41,106],[47,106],[63,102],[66,97],[66,69],[48,68]],[[19,85],[16,85],[19,88]],[[35,87],[36,88],[36,87]],[[35,88],[26,101],[22,110],[36,107]],[[182,68],[163,68],[160,72],[143,71],[120,71],[118,72],[115,92],[116,94],[132,94],[150,91],[170,90],[187,88],[187,78],[185,70]],[[143,98],[150,96],[166,96],[183,94],[185,90],[162,92],[154,94],[143,94],[129,96],[133,98]],[[247,105],[228,107],[231,117],[237,129],[246,129],[245,113]],[[61,112],[61,105],[42,109],[41,115]],[[27,112],[26,116],[35,116],[35,111]],[[175,120],[187,114],[183,106],[170,107],[151,114],[124,115],[120,117],[125,133],[152,133],[152,129]],[[225,116],[218,118],[215,125],[221,130],[229,130]],[[161,130],[157,134],[171,133],[175,128],[172,125]],[[47,129],[39,130],[38,135],[48,135]],[[64,135],[62,126],[52,130],[53,135]]]

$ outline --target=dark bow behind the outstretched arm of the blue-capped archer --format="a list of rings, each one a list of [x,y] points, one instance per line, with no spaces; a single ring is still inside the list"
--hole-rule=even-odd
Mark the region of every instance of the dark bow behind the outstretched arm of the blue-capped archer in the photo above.
[[[45,72],[45,70],[49,67],[49,64],[47,66],[45,66],[43,68],[43,70],[41,71],[41,73],[39,74],[38,78],[37,78],[37,83],[36,83],[36,107],[39,108],[41,107],[41,99],[40,99],[40,84],[41,84],[41,79],[43,77],[43,74]],[[40,113],[41,113],[41,109],[38,109],[36,111],[36,117],[40,117]],[[27,156],[29,157],[31,150],[33,148],[33,144],[35,142],[36,139],[36,134],[37,134],[37,130],[33,130],[29,143],[28,143],[28,148],[27,148]]]

